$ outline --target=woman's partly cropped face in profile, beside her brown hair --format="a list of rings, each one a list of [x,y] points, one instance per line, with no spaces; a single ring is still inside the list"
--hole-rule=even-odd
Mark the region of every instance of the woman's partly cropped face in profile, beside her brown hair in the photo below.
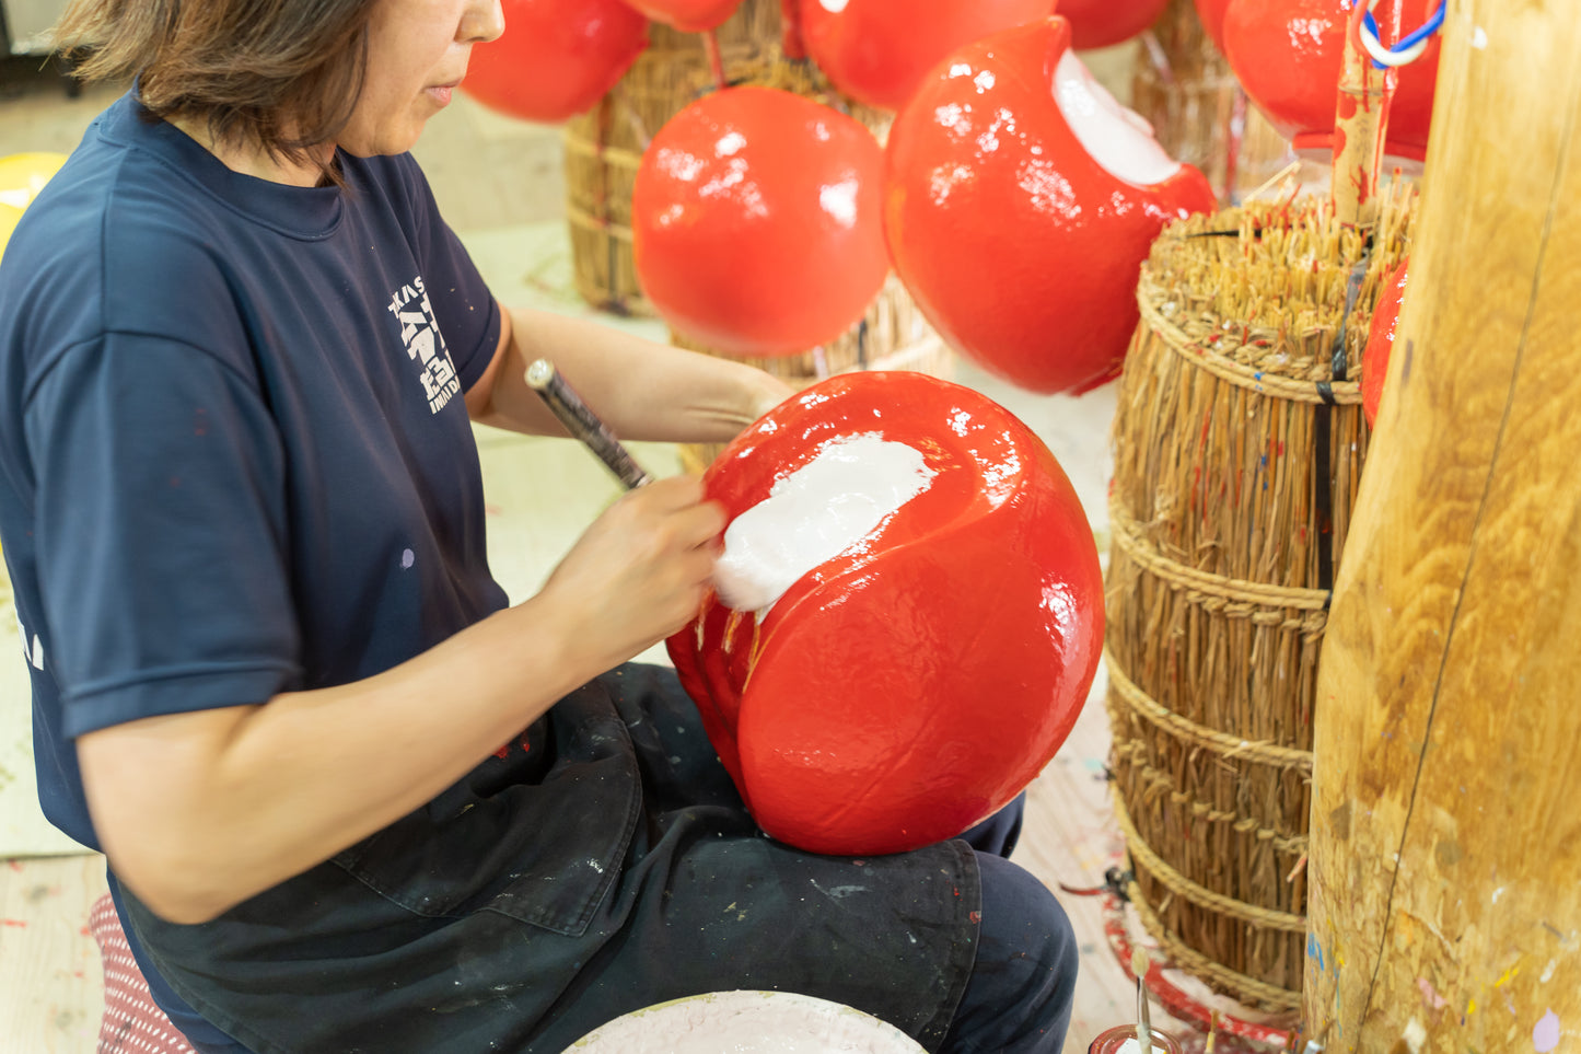
[[[357,157],[409,150],[451,101],[473,44],[503,30],[500,0],[378,0],[362,97],[337,144]]]

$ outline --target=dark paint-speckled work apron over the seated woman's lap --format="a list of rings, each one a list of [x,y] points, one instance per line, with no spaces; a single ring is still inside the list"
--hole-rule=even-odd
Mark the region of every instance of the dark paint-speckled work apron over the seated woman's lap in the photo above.
[[[847,1003],[938,1049],[975,954],[964,842],[852,859],[768,839],[659,666],[579,688],[523,742],[212,923],[130,893],[126,921],[258,1054],[558,1054],[724,989]]]

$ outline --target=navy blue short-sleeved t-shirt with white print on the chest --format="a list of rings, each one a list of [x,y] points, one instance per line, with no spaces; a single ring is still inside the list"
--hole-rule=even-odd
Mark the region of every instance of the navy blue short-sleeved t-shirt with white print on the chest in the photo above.
[[[5,662],[84,845],[76,736],[359,681],[506,605],[462,399],[498,307],[411,157],[340,165],[242,176],[128,95],[5,250]]]

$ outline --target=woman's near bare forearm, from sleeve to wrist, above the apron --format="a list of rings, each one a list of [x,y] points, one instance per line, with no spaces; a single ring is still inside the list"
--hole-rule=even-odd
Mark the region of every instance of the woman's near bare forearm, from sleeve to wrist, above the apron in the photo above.
[[[82,736],[84,785],[117,875],[199,923],[430,801],[598,673],[512,608],[356,684]]]

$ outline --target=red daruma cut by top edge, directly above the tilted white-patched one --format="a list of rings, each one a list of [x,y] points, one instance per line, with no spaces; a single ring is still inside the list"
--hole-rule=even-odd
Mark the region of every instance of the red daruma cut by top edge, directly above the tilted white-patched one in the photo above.
[[[802,40],[841,92],[900,109],[957,47],[1053,8],[1055,0],[849,0],[843,8],[802,0]]]

